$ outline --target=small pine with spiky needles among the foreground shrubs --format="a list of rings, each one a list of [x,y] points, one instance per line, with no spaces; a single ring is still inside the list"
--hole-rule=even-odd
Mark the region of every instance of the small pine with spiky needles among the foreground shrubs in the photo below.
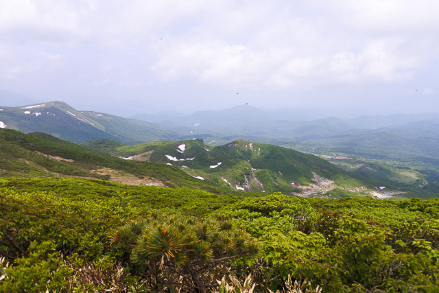
[[[131,261],[155,290],[206,292],[227,270],[226,261],[257,253],[252,237],[230,222],[153,214],[110,235],[131,248]]]

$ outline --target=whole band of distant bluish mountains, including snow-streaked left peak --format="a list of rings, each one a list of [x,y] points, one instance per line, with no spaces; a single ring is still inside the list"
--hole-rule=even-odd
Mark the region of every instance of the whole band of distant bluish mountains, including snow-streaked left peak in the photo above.
[[[303,115],[302,115],[303,116]],[[135,118],[135,119],[134,119]],[[1,107],[0,127],[21,132],[45,132],[60,139],[82,143],[112,139],[137,144],[150,141],[201,138],[219,145],[224,139],[250,141],[307,142],[314,139],[357,137],[391,132],[399,137],[439,139],[439,114],[363,116],[342,120],[329,117],[297,120],[284,111],[263,111],[252,106],[236,106],[218,111],[201,111],[189,116],[137,115],[131,119],[78,111],[64,102],[47,102],[20,107]],[[270,141],[272,140],[272,141]]]

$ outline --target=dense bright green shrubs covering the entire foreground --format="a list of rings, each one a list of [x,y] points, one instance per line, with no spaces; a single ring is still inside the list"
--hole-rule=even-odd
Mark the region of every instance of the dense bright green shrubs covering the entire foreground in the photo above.
[[[439,288],[438,199],[243,198],[78,178],[0,185],[0,292]]]

